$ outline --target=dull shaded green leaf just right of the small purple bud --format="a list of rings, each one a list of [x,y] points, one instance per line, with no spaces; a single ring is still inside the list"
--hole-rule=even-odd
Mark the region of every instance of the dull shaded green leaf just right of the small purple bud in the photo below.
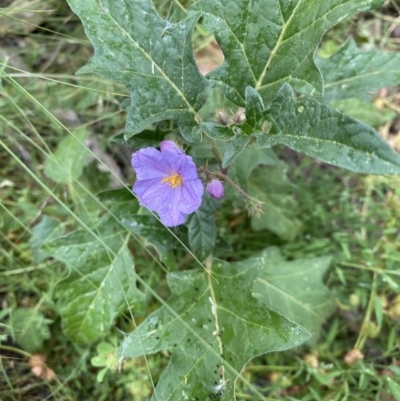
[[[248,193],[263,203],[262,213],[251,216],[254,231],[269,230],[286,241],[292,241],[301,229],[296,218],[294,185],[286,177],[286,164],[255,169],[248,182]]]

